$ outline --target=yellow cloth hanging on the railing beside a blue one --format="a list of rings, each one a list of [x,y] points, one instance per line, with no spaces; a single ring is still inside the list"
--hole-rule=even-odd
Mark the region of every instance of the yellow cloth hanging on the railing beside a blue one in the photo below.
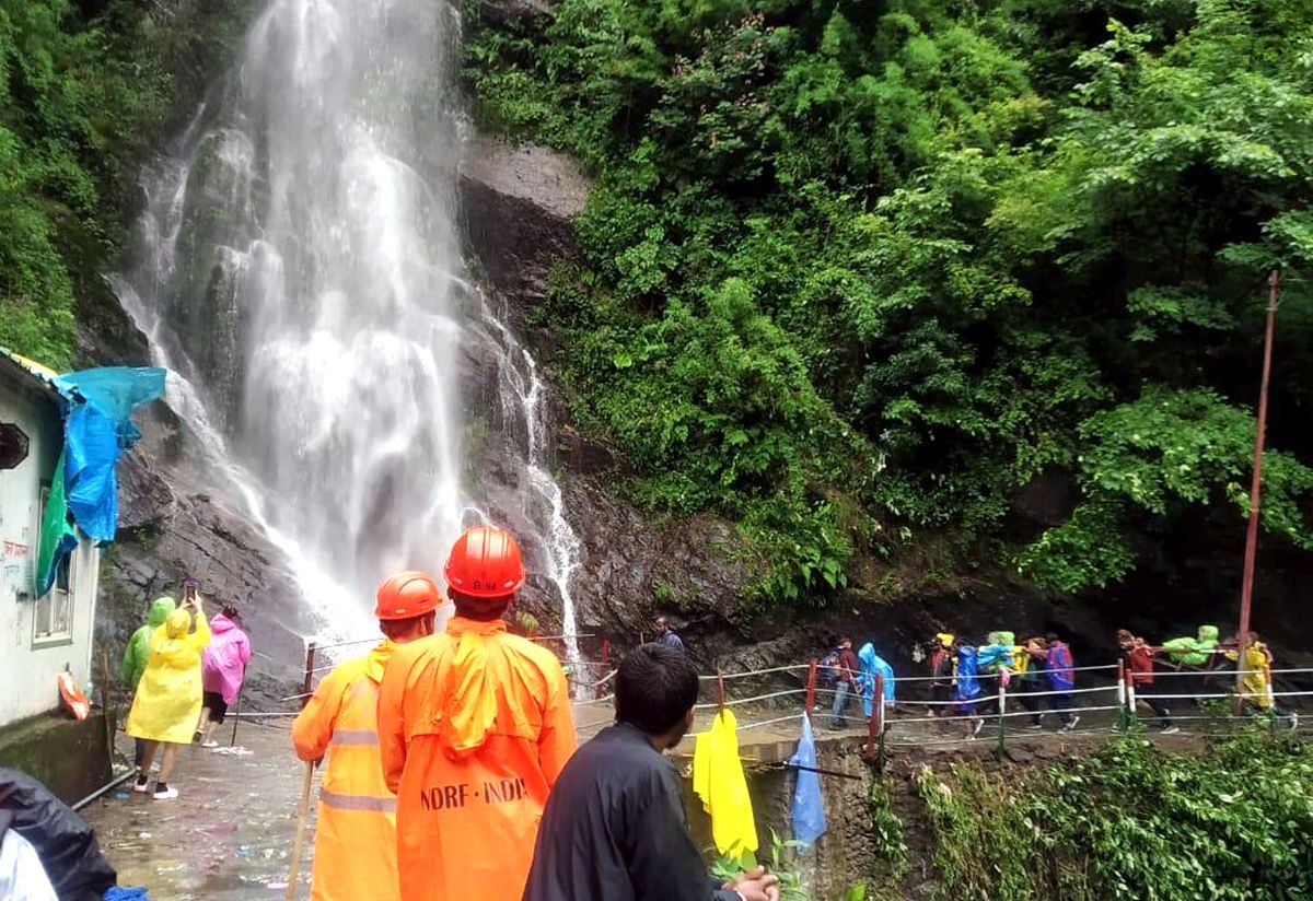
[[[729,710],[716,715],[708,732],[697,733],[693,750],[693,791],[712,817],[716,850],[741,858],[756,851],[756,822],[738,755],[738,721]]]

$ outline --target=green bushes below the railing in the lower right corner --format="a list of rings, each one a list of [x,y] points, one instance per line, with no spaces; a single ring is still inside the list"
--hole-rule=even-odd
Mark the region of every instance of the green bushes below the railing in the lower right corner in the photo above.
[[[1125,738],[1001,779],[919,776],[939,897],[1264,901],[1313,893],[1313,750],[1262,733],[1200,755]]]

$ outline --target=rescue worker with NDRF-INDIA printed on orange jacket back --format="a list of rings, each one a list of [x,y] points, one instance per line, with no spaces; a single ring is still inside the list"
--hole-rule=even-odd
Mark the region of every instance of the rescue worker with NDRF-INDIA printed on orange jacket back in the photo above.
[[[444,574],[456,615],[398,649],[378,699],[402,901],[519,898],[548,792],[575,749],[570,694],[550,651],[506,631],[524,584],[515,538],[467,530]]]

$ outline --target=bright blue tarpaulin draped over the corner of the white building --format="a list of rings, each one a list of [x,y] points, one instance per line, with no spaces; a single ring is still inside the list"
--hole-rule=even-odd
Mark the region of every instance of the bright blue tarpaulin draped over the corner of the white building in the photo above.
[[[133,409],[164,393],[161,369],[112,366],[60,375],[50,382],[66,401],[63,508],[59,492],[51,492],[42,532],[55,534],[71,513],[77,527],[95,542],[112,542],[118,529],[118,480],[114,467],[121,451],[142,433],[133,425]],[[39,593],[55,581],[60,561],[76,547],[62,542],[46,559],[42,553]]]

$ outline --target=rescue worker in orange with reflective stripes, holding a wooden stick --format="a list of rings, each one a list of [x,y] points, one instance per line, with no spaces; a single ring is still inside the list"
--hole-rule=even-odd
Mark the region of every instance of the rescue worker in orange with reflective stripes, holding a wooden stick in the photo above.
[[[328,751],[319,790],[311,901],[397,901],[397,799],[378,759],[378,685],[398,647],[433,633],[442,603],[437,582],[419,572],[378,586],[383,640],[334,668],[291,725],[297,757]]]

